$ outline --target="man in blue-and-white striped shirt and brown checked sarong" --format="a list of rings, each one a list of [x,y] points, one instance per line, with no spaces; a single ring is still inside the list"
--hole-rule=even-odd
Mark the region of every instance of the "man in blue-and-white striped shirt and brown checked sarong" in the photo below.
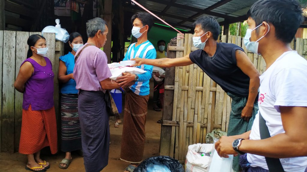
[[[131,22],[133,23],[132,35],[138,39],[132,43],[125,55],[125,60],[132,58],[155,59],[157,56],[153,44],[147,39],[147,33],[153,24],[153,18],[149,13],[135,13]],[[145,123],[147,105],[149,99],[149,80],[152,77],[152,65],[140,65],[146,73],[135,75],[123,73],[117,78],[119,85],[126,90],[124,123],[122,129],[122,146],[120,159],[131,163],[125,171],[132,172],[142,162],[145,144]],[[129,83],[134,82],[131,85]]]

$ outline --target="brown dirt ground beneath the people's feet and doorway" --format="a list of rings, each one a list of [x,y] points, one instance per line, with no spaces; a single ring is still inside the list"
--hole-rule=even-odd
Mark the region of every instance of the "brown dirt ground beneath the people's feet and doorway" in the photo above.
[[[150,88],[152,88],[152,82],[150,83]],[[156,112],[152,107],[152,90],[150,91],[150,99],[148,105],[148,114],[146,119],[146,141],[145,141],[145,151],[144,159],[149,157],[159,155],[159,145],[160,145],[160,134],[161,134],[161,124],[157,123],[157,120],[161,119],[162,112]],[[122,114],[121,114],[121,119]],[[122,123],[119,128],[114,128],[114,121],[110,121],[110,134],[111,134],[111,145],[109,151],[109,162],[108,165],[102,170],[102,172],[122,172],[129,165],[120,158],[120,146],[122,137]],[[64,158],[65,154],[63,152],[57,155],[41,155],[43,160],[50,163],[49,172],[83,172],[84,164],[83,158],[78,154],[72,152],[72,163],[68,169],[60,169],[58,167],[59,162]],[[19,153],[8,154],[0,153],[0,172],[25,172],[25,164],[27,158],[25,155]]]

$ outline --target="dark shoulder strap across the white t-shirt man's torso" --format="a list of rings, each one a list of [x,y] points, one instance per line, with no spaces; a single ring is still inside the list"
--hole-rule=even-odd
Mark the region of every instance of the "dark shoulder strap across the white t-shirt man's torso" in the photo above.
[[[259,130],[260,130],[260,138],[266,139],[271,137],[268,126],[266,125],[266,121],[262,118],[259,110]],[[282,163],[278,158],[269,158],[265,157],[266,164],[269,168],[269,172],[284,172],[282,167]]]

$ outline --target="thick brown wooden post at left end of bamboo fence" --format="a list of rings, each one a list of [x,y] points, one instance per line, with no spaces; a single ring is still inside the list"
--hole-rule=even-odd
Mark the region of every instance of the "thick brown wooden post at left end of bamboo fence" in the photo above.
[[[169,43],[168,46],[176,46],[177,43]],[[171,51],[167,48],[167,58],[176,58],[176,51]],[[165,69],[165,79],[164,85],[175,85],[175,67]],[[164,101],[163,101],[163,115],[162,120],[172,121],[173,119],[173,100],[174,91],[165,90],[164,91]],[[160,155],[169,156],[170,146],[171,146],[171,133],[172,126],[161,125],[161,139],[160,139]]]

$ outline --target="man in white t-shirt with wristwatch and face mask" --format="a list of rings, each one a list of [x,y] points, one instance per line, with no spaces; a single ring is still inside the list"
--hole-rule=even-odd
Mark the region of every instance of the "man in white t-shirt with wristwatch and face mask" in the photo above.
[[[247,17],[250,29],[244,44],[248,50],[261,54],[267,66],[260,77],[259,111],[251,131],[223,136],[215,148],[221,157],[243,154],[240,159],[250,164],[248,172],[269,171],[268,164],[278,166],[265,157],[279,159],[279,166],[286,172],[304,172],[307,167],[307,61],[289,47],[303,21],[301,7],[297,0],[259,0]],[[260,114],[271,136],[262,140]],[[271,171],[274,170],[270,168]]]

